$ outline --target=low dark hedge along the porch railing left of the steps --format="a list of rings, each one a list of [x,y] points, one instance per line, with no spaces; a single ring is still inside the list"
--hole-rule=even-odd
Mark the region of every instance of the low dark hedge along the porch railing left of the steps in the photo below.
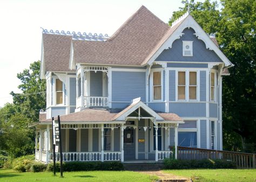
[[[47,171],[53,171],[53,163],[48,164]],[[120,162],[68,162],[63,163],[63,171],[121,171],[124,166]],[[56,171],[60,171],[60,163],[56,163]]]

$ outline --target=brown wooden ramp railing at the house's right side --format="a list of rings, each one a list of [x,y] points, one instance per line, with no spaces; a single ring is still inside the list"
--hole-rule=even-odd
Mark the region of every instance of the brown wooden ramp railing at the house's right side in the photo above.
[[[224,159],[231,160],[241,169],[255,169],[256,154],[221,150],[209,150],[178,146],[178,159]]]

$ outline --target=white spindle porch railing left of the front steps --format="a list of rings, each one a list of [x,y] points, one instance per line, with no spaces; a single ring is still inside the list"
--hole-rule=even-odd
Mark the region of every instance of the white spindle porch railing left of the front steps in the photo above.
[[[64,162],[74,162],[74,161],[101,161],[101,152],[63,152]],[[49,153],[50,161],[53,160],[53,153]],[[121,152],[104,152],[104,161],[117,161],[121,160]],[[56,161],[60,161],[60,153],[56,153]]]

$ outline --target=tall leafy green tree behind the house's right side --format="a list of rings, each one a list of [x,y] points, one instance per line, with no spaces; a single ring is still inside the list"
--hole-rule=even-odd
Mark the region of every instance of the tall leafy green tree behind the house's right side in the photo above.
[[[223,79],[224,148],[255,151],[256,141],[256,2],[221,0],[195,3],[182,1],[183,8],[173,12],[169,24],[183,15],[191,15],[206,33],[216,33],[220,49],[234,64],[231,75]]]

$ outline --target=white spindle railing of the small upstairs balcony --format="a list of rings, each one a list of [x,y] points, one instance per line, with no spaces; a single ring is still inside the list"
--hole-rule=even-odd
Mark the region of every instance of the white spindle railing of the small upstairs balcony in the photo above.
[[[107,107],[108,98],[98,96],[84,96],[85,107]]]

